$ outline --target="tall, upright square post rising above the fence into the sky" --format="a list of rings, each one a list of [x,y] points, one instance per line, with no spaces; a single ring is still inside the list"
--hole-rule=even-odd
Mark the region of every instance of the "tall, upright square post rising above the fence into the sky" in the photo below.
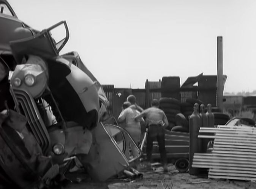
[[[223,110],[223,39],[217,37],[217,105]]]

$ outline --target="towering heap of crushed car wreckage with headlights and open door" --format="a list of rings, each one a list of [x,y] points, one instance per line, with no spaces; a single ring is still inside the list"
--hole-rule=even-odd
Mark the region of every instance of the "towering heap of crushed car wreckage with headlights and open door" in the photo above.
[[[141,150],[125,155],[125,143],[136,144],[106,120],[100,83],[77,52],[59,54],[69,39],[66,22],[38,32],[19,22],[5,0],[0,8],[1,184],[51,187],[77,164],[104,181],[129,167]]]

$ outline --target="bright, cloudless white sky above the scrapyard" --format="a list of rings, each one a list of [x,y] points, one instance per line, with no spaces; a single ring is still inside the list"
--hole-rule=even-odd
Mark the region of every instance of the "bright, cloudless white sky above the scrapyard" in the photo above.
[[[42,30],[66,20],[70,40],[101,84],[144,88],[145,80],[216,74],[223,36],[225,91],[256,89],[255,0],[9,0]]]

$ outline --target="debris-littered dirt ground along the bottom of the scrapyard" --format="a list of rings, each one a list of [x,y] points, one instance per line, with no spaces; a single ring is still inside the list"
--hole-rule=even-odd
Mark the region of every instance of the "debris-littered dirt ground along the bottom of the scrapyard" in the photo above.
[[[255,189],[256,183],[250,181],[213,180],[179,173],[174,165],[168,165],[168,173],[160,166],[139,164],[137,170],[143,173],[141,179],[111,179],[104,183],[95,183],[76,175],[79,183],[73,183],[65,189]],[[74,175],[73,175],[74,176]]]

